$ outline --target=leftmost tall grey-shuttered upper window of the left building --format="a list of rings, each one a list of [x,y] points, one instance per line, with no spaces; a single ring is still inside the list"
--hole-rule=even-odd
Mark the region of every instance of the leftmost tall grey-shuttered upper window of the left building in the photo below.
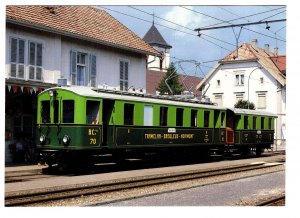
[[[10,76],[25,79],[25,40],[10,39]]]

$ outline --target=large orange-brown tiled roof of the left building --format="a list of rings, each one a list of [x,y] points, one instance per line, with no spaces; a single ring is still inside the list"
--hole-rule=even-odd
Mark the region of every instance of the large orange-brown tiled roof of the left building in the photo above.
[[[88,6],[6,6],[6,20],[138,53],[159,52],[104,10]]]

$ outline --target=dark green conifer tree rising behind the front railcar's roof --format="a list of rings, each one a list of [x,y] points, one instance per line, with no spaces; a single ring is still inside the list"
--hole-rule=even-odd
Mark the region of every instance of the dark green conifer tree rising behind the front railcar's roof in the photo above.
[[[166,85],[166,81],[171,88],[172,92],[169,90]],[[179,75],[177,74],[175,65],[171,62],[169,68],[167,69],[167,73],[164,78],[160,81],[158,87],[156,88],[159,91],[160,95],[168,94],[168,95],[179,95],[183,91],[183,85],[179,82]]]

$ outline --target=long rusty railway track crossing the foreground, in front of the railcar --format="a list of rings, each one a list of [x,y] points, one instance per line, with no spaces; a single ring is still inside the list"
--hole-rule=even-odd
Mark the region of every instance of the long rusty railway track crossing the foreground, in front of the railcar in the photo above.
[[[115,192],[126,189],[154,186],[186,180],[234,174],[238,172],[258,170],[278,165],[266,163],[244,164],[228,167],[219,167],[207,170],[192,170],[180,173],[167,173],[152,176],[139,176],[105,182],[77,184],[73,186],[51,187],[22,192],[8,192],[5,194],[5,206],[30,206],[32,204],[53,202],[62,199],[71,199],[87,195]]]

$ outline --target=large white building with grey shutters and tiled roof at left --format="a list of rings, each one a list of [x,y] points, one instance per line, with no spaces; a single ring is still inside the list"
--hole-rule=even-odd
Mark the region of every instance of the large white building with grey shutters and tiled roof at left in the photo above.
[[[35,136],[37,94],[67,85],[146,90],[160,53],[111,15],[87,6],[7,6],[5,144]]]

